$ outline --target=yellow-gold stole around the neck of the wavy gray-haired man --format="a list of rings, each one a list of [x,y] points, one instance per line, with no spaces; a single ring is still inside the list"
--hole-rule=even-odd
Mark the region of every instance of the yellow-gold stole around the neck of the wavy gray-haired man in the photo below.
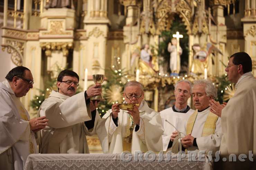
[[[198,110],[196,109],[194,111],[194,113],[188,119],[188,123],[186,125],[186,134],[187,135],[191,134],[191,132],[193,130],[197,114],[198,114]],[[202,136],[209,136],[210,134],[214,134],[215,129],[216,129],[216,122],[217,122],[218,118],[219,117],[212,112],[210,112],[208,114],[208,116],[204,122]]]

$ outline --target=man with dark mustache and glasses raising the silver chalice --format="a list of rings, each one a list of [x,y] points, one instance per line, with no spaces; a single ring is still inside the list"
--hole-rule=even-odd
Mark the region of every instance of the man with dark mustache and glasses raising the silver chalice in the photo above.
[[[97,132],[101,139],[107,134],[106,130],[96,128],[101,118],[97,102],[90,102],[90,97],[101,93],[101,88],[97,88],[100,84],[75,94],[78,82],[79,76],[74,71],[61,71],[58,91],[52,91],[40,106],[38,116],[49,119],[48,126],[39,134],[40,153],[89,153],[86,135]]]

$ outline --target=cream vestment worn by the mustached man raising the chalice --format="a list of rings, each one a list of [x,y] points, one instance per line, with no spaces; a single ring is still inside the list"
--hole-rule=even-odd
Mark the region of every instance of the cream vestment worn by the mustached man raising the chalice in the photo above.
[[[85,126],[84,121],[92,118],[84,92],[69,97],[52,91],[37,114],[49,119],[48,126],[39,135],[41,153],[89,153],[86,135],[97,133],[100,139],[107,135],[106,130],[97,127],[101,121],[98,111],[93,129],[88,130]]]

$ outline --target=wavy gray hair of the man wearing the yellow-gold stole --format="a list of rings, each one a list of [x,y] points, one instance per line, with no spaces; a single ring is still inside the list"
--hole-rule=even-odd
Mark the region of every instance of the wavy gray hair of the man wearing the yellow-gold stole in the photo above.
[[[217,89],[214,87],[212,81],[206,80],[206,79],[195,80],[193,87],[198,84],[205,85],[206,96],[212,97],[213,99],[215,99],[217,97]]]

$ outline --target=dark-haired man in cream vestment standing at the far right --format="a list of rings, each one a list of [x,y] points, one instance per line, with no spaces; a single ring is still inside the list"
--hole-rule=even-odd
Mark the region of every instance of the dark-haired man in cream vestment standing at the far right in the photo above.
[[[230,154],[245,154],[245,162],[222,164],[222,169],[255,169],[248,160],[249,151],[256,154],[256,79],[252,74],[252,59],[245,52],[232,54],[226,68],[228,80],[236,83],[236,92],[225,108],[219,103],[212,103],[214,110],[221,117],[223,137],[220,145],[221,157]],[[213,110],[213,111],[214,111]],[[238,159],[237,159],[238,160]],[[224,166],[225,165],[225,166]]]

